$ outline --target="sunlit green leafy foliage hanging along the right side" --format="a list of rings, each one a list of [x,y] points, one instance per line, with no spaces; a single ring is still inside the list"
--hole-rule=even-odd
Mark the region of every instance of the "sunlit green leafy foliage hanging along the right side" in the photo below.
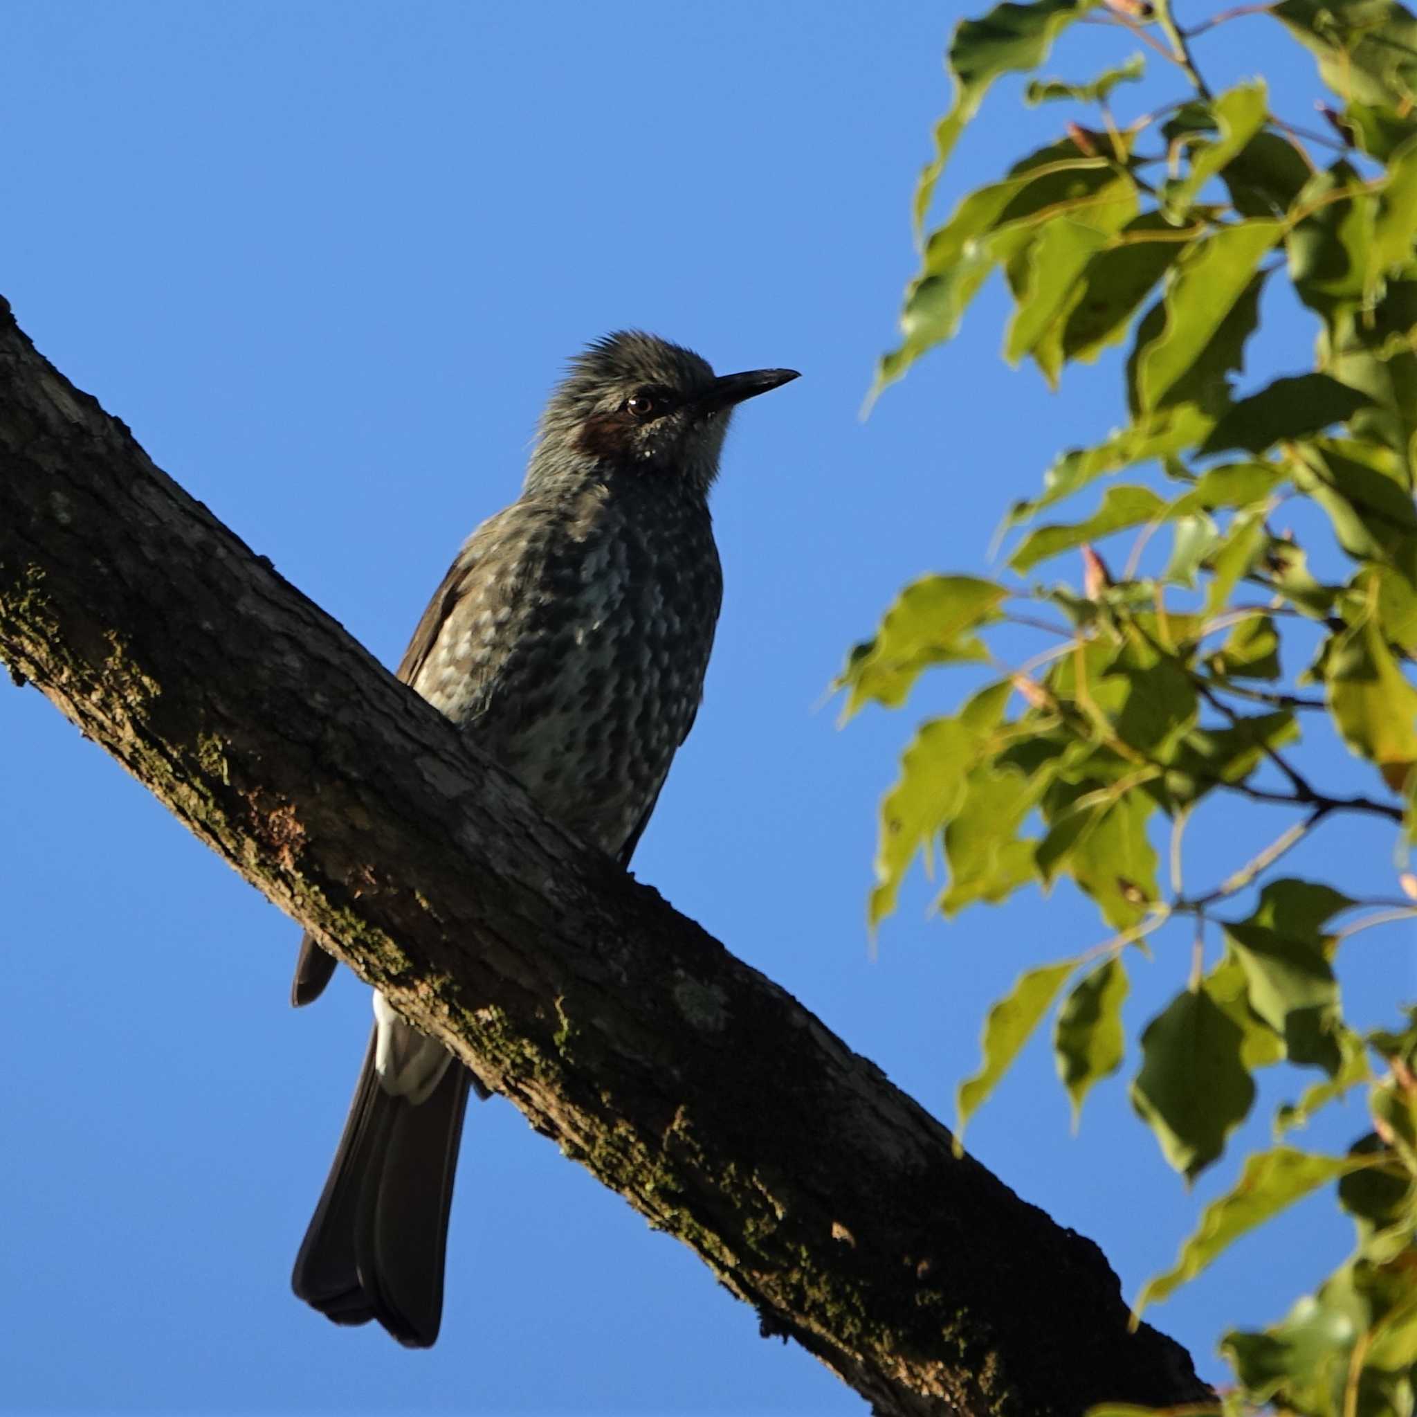
[[[1315,55],[1333,139],[1305,140],[1260,81],[1207,86],[1197,41],[1247,11]],[[955,96],[915,194],[918,228],[989,88],[1036,71],[1084,17],[1132,30],[1190,94],[1122,123],[1111,105],[1141,57],[1090,81],[1032,79],[1029,103],[1080,105],[1084,118],[922,237],[876,393],[949,340],[998,272],[1012,296],[1005,359],[1056,387],[1067,366],[1124,346],[1127,417],[1063,451],[1040,492],[1009,509],[1003,572],[917,581],[849,656],[837,680],[847,717],[904,704],[939,666],[986,673],[903,755],[881,803],[870,924],[894,910],[914,862],[938,859],[945,915],[1067,881],[1108,931],[1029,969],[989,1010],[979,1071],[959,1088],[962,1132],[1050,1013],[1077,1118],[1127,1060],[1128,969],[1149,937],[1185,922],[1176,992],[1142,1027],[1131,1081],[1166,1161],[1187,1179],[1216,1162],[1254,1105],[1258,1070],[1316,1081],[1280,1110],[1275,1145],[1246,1161],[1138,1311],[1331,1187],[1355,1253],[1272,1328],[1226,1336],[1230,1406],[1407,1417],[1417,1013],[1360,1034],[1336,965],[1356,930],[1417,914],[1406,870],[1417,839],[1417,18],[1396,0],[1280,0],[1186,31],[1169,0],[999,4],[951,41]],[[1236,376],[1274,282],[1309,312],[1314,357],[1241,397]],[[1090,510],[1054,512],[1118,473],[1129,476]],[[1278,524],[1287,504],[1319,513],[1311,544]],[[1129,548],[1104,560],[1097,547],[1118,537]],[[1076,582],[1027,580],[1064,555],[1081,563]],[[1007,652],[1020,635],[1041,638],[1023,660]],[[1311,781],[1304,748],[1325,733],[1356,760],[1359,791]],[[1288,825],[1226,879],[1187,886],[1187,823],[1237,798],[1275,805]],[[1295,845],[1352,815],[1391,828],[1393,901],[1281,873]],[[1282,1141],[1355,1088],[1372,1129],[1346,1155]]]

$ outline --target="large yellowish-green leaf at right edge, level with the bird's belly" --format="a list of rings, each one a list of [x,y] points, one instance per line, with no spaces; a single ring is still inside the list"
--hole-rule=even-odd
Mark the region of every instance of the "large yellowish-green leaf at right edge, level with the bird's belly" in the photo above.
[[[1417,690],[1397,667],[1376,616],[1333,638],[1325,690],[1343,741],[1399,791],[1417,762]]]

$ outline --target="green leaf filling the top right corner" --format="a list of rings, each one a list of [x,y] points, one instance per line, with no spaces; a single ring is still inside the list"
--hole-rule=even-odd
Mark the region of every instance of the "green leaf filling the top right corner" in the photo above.
[[[1417,21],[1396,0],[1282,0],[1271,13],[1339,98],[1407,108],[1417,96]]]

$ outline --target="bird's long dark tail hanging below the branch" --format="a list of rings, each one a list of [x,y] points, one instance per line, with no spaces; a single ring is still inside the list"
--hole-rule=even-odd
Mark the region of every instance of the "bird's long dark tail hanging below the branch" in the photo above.
[[[336,1323],[378,1319],[400,1343],[429,1348],[442,1321],[448,1210],[472,1074],[449,1058],[415,1104],[380,1085],[377,1037],[376,1027],[290,1282]]]

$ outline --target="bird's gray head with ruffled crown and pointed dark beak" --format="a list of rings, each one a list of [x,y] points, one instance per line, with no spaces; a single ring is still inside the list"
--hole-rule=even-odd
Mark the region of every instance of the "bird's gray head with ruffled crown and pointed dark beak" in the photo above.
[[[796,378],[791,368],[718,374],[693,350],[622,330],[571,363],[541,417],[527,486],[594,465],[599,475],[677,478],[707,493],[735,405]]]

